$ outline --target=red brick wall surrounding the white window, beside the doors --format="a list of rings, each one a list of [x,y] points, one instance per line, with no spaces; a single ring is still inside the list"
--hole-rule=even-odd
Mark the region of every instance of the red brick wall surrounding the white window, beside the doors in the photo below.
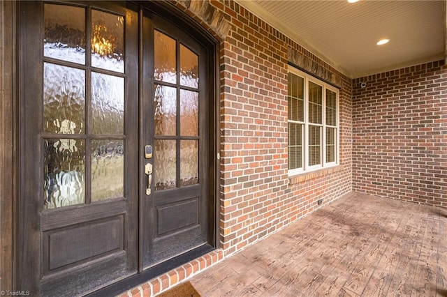
[[[228,255],[321,207],[318,199],[324,205],[351,191],[352,84],[237,3],[197,3],[179,1],[177,7],[221,39],[220,241]],[[341,87],[341,165],[295,178],[287,175],[291,56]]]

